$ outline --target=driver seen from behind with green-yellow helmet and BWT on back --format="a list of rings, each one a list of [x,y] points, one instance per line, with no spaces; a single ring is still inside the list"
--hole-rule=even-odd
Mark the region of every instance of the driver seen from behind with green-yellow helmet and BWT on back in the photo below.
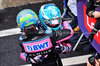
[[[72,36],[70,29],[54,31],[48,27],[44,30],[38,16],[30,9],[18,13],[17,24],[23,32],[19,44],[22,48],[20,57],[24,61],[32,66],[63,66],[59,53],[71,51],[71,45],[62,42]]]

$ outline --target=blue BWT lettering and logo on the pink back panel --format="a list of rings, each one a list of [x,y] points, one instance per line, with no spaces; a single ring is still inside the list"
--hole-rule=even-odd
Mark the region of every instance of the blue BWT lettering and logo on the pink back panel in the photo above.
[[[42,44],[33,45],[32,47],[29,46],[29,45],[26,45],[26,49],[28,51],[43,50],[43,49],[48,48],[48,47],[49,47],[49,42],[45,42],[45,43],[42,43]]]

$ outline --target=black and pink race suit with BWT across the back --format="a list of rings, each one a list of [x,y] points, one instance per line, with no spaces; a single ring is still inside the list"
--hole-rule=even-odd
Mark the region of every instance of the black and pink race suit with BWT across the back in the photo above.
[[[65,44],[63,41],[70,39],[73,36],[73,30],[67,21],[63,22],[63,30],[52,31],[50,34],[31,35],[27,37],[22,35],[19,39],[19,44],[22,48],[20,57],[33,66],[63,66],[59,54],[54,53],[56,44],[61,43],[64,46],[61,51],[71,51],[70,44]],[[67,46],[67,48],[65,47]]]

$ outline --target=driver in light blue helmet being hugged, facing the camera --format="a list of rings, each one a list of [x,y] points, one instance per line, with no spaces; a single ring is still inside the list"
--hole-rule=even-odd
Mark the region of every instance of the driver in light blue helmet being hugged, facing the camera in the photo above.
[[[66,41],[62,41],[62,43],[70,44],[69,39],[73,36],[74,32],[68,21],[64,20],[62,22],[62,18],[64,18],[64,13],[61,15],[60,9],[55,4],[48,3],[40,7],[39,19],[45,30],[47,30],[48,28],[54,31],[63,29],[71,30],[71,35],[67,37]]]

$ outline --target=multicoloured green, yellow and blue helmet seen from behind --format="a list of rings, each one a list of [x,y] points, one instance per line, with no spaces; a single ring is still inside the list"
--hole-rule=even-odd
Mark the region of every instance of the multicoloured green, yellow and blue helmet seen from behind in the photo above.
[[[26,27],[27,29],[37,29],[36,27],[39,24],[38,16],[31,9],[24,9],[20,11],[17,15],[16,21],[18,27],[20,27],[22,31],[25,31]]]

